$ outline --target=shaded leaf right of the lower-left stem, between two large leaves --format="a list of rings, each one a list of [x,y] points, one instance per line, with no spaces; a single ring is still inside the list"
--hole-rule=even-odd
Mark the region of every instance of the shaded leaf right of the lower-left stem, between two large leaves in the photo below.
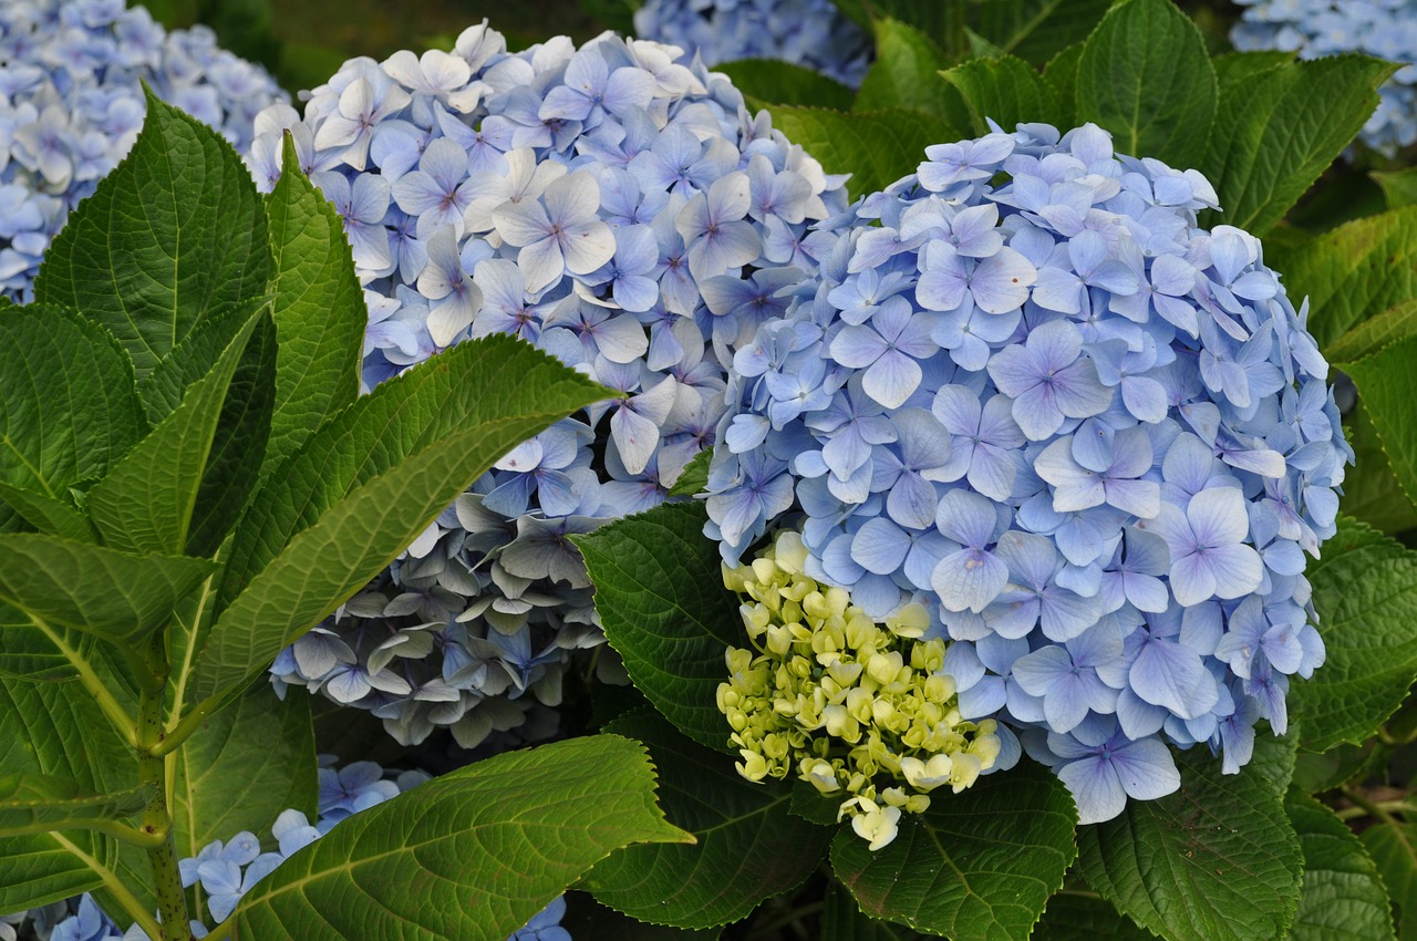
[[[310,697],[282,701],[268,684],[254,686],[176,751],[177,857],[194,857],[211,840],[230,840],[242,830],[269,833],[286,808],[315,819],[316,764]]]

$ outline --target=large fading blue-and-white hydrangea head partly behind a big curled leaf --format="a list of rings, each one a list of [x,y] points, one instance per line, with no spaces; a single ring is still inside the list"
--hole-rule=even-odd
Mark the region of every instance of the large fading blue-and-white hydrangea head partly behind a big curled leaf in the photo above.
[[[483,23],[451,52],[351,60],[303,119],[256,118],[262,186],[283,129],[353,245],[366,385],[502,332],[625,394],[502,458],[273,666],[402,743],[475,747],[558,704],[602,642],[568,537],[657,505],[713,444],[727,364],[815,274],[842,180],[723,75],[612,34],[507,52]]]

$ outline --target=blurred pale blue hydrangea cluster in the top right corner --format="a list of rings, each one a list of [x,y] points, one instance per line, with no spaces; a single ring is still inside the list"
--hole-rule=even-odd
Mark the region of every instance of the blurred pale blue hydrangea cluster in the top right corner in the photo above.
[[[1403,62],[1377,89],[1377,111],[1359,139],[1393,156],[1417,143],[1417,4],[1411,0],[1236,0],[1237,50],[1282,50],[1301,58],[1365,52]]]

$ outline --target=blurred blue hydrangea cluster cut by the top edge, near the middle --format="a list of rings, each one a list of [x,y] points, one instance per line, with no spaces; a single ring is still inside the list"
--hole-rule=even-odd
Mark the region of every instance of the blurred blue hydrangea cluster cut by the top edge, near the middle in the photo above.
[[[708,65],[771,58],[805,65],[857,88],[870,37],[832,0],[649,0],[635,31],[697,52]]]

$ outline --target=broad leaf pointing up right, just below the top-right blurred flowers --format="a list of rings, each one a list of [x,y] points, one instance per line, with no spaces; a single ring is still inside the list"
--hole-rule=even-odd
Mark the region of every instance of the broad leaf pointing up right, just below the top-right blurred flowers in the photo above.
[[[1200,169],[1223,211],[1206,213],[1202,227],[1270,231],[1362,129],[1377,105],[1377,86],[1394,68],[1333,55],[1275,65],[1221,89],[1221,119]]]

